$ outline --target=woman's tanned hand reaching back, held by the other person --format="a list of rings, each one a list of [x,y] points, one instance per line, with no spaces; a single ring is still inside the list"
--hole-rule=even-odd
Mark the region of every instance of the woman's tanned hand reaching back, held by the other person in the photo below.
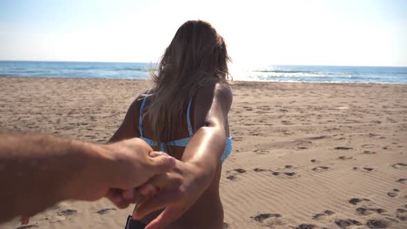
[[[167,178],[175,179],[179,177],[182,183],[180,186],[168,187],[165,185]],[[177,161],[177,166],[166,175],[157,175],[150,179],[148,183],[139,188],[140,192],[159,188],[160,192],[136,206],[133,212],[133,219],[142,219],[146,215],[165,208],[163,212],[152,220],[146,228],[163,228],[172,221],[177,220],[186,212],[210,185],[211,179],[207,173],[193,163]],[[172,188],[172,190],[171,190]]]

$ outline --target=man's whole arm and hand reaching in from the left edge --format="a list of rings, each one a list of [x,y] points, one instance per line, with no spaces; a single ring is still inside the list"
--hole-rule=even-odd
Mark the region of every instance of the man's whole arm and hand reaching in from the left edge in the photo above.
[[[175,166],[171,157],[149,157],[152,149],[141,139],[99,145],[4,131],[0,139],[0,221],[34,215],[64,199],[94,201]]]

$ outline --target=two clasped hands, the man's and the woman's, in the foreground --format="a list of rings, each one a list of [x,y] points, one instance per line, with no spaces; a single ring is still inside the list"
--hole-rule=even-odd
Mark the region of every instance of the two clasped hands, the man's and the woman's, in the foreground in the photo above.
[[[163,209],[147,229],[163,228],[177,220],[211,181],[208,172],[194,163],[154,152],[139,138],[88,148],[90,153],[81,161],[86,170],[80,177],[68,179],[61,189],[61,200],[96,201],[106,197],[119,208],[137,203],[133,219]],[[29,217],[23,215],[21,223],[27,224]]]

